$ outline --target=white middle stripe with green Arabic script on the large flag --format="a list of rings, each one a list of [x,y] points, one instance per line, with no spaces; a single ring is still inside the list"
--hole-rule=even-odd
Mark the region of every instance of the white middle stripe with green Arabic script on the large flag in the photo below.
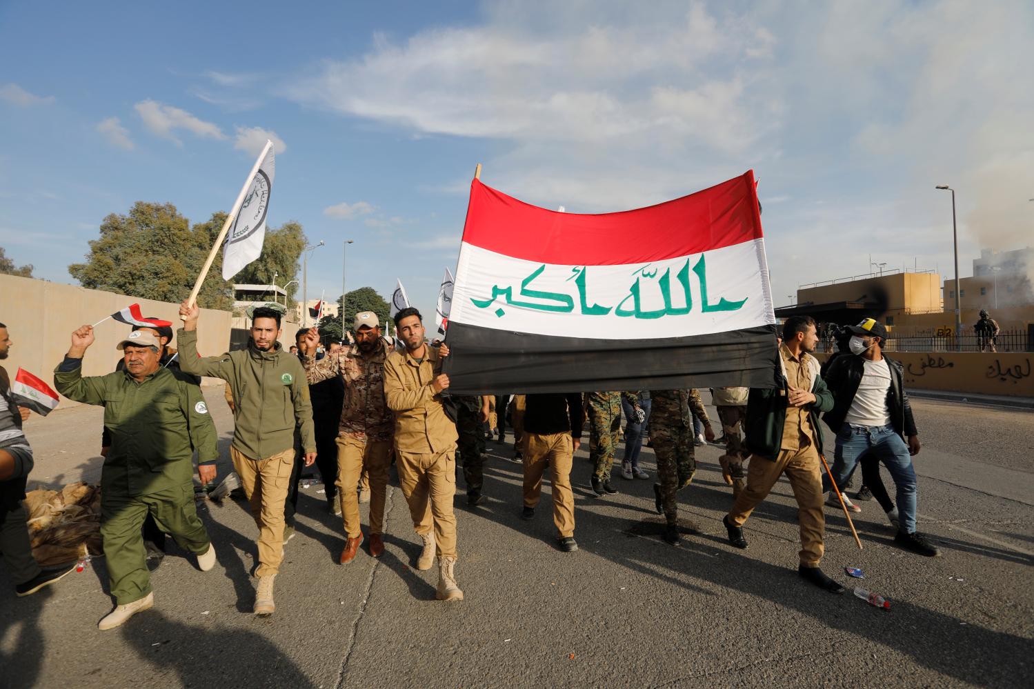
[[[659,338],[776,323],[763,239],[648,264],[587,267],[463,243],[456,278],[451,322],[511,332]]]

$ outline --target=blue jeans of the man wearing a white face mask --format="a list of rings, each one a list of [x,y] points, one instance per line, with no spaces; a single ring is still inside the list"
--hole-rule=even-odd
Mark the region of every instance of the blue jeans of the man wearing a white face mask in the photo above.
[[[837,487],[844,485],[854,471],[858,457],[872,452],[890,472],[898,486],[898,514],[902,531],[915,533],[915,470],[908,445],[902,437],[887,426],[853,426],[845,423],[837,433],[837,454],[830,471],[837,480]],[[822,490],[829,490],[829,476],[822,477]]]

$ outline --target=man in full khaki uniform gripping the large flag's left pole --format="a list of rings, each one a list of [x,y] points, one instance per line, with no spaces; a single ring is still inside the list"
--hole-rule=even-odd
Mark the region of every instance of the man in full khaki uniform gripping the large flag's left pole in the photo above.
[[[442,391],[449,377],[442,372],[443,344],[424,341],[420,311],[403,308],[395,314],[397,336],[405,352],[395,351],[385,363],[385,397],[395,413],[398,480],[409,504],[413,525],[424,541],[417,563],[429,569],[438,556],[438,600],[463,600],[456,583],[456,424],[446,415]],[[430,518],[427,505],[430,500]]]

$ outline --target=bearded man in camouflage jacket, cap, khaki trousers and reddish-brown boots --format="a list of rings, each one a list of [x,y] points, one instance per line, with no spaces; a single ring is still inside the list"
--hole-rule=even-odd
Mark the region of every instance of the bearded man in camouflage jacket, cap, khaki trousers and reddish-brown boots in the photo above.
[[[394,426],[391,410],[385,402],[385,360],[390,348],[381,337],[381,321],[373,311],[356,313],[353,324],[356,343],[347,350],[315,359],[320,333],[315,328],[299,339],[305,355],[305,376],[310,385],[340,376],[344,383],[344,405],[337,437],[337,491],[344,516],[344,549],[339,562],[352,562],[363,542],[359,522],[359,496],[356,484],[364,472],[370,482],[370,555],[379,558],[385,551],[385,502],[388,493],[388,467],[391,463],[391,437]]]

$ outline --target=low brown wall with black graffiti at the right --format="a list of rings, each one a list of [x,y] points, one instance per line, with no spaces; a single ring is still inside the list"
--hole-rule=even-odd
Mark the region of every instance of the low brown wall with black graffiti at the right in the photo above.
[[[825,361],[828,354],[816,354]],[[893,352],[905,366],[905,386],[986,395],[1034,397],[1034,354]]]

